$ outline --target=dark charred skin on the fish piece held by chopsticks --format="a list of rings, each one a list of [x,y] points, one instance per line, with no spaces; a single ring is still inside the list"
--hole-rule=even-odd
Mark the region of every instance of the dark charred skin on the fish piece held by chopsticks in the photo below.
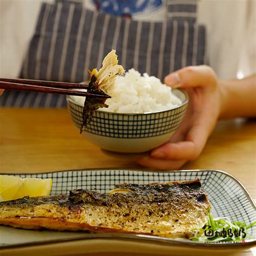
[[[105,93],[103,91],[98,90],[95,84],[96,80],[97,78],[92,75],[87,92],[96,92],[97,94],[104,95]],[[105,104],[105,101],[105,98],[86,97],[84,102],[83,120],[80,127],[80,133],[85,131],[87,124],[91,122],[94,111],[96,111],[100,107],[109,107],[109,105]]]

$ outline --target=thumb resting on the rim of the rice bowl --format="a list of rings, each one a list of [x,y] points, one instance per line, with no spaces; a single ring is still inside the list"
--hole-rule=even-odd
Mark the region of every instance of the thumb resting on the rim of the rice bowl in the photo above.
[[[210,66],[187,66],[167,75],[164,82],[172,87],[190,88],[216,84],[217,77]]]

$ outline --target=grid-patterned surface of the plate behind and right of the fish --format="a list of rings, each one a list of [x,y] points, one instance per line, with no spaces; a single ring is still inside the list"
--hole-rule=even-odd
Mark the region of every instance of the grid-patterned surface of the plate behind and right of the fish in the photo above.
[[[18,174],[16,174],[18,175]],[[94,169],[72,170],[37,174],[19,174],[18,176],[35,178],[52,178],[51,195],[67,194],[75,188],[97,190],[102,193],[110,191],[120,183],[154,183],[199,178],[208,194],[216,217],[229,217],[233,221],[251,224],[256,221],[255,204],[238,180],[222,171],[191,170],[154,172],[129,169]],[[256,237],[256,226],[248,231]]]

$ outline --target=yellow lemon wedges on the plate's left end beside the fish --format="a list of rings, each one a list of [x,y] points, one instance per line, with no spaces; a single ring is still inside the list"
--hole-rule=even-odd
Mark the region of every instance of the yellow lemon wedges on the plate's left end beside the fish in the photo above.
[[[22,179],[16,176],[0,175],[0,201],[15,200],[25,196],[48,196],[51,186],[51,179]]]

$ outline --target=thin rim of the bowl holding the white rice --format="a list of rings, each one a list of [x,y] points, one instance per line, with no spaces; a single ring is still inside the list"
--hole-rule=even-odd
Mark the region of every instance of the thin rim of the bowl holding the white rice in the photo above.
[[[179,109],[180,107],[183,107],[184,105],[187,105],[188,104],[188,94],[185,90],[183,89],[180,89],[180,88],[176,88],[176,89],[172,89],[172,91],[174,90],[178,90],[178,91],[181,91],[184,95],[185,95],[185,100],[183,103],[181,103],[180,105],[178,106],[174,106],[174,107],[171,107],[170,109],[165,109],[165,110],[159,110],[159,111],[154,111],[154,112],[144,112],[144,113],[115,113],[115,112],[108,112],[108,111],[100,111],[100,110],[96,110],[97,112],[99,113],[106,113],[106,114],[116,114],[118,116],[122,115],[122,116],[142,116],[144,114],[146,115],[150,115],[150,114],[156,114],[156,113],[165,113],[165,112],[169,112],[171,110],[174,110],[174,109]],[[70,95],[66,95],[66,100],[77,105],[77,106],[80,106],[80,107],[83,107],[83,105],[80,105],[79,103],[77,103],[75,100],[73,100]]]

